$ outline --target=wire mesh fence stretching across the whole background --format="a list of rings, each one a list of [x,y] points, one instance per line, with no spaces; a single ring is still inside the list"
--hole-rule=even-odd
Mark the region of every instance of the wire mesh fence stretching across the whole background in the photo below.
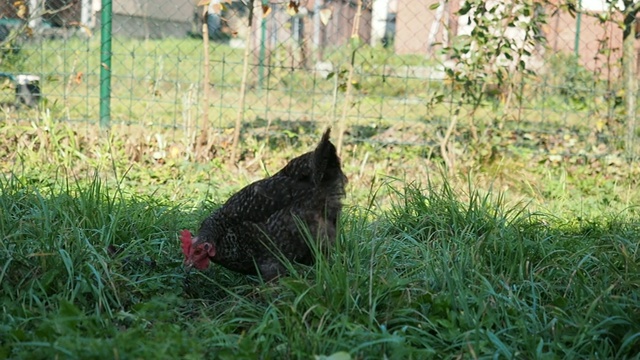
[[[348,141],[429,146],[442,142],[455,118],[454,136],[462,142],[480,137],[571,155],[601,143],[602,155],[636,151],[637,85],[629,84],[637,79],[632,75],[625,85],[622,68],[631,26],[624,17],[635,18],[635,6],[625,10],[605,0],[200,5],[3,2],[3,116],[37,119],[45,109],[58,121],[92,124],[107,101],[110,124],[222,131],[242,111],[245,128],[254,131],[343,121]],[[105,21],[110,34],[101,31]],[[101,60],[105,35],[109,65]],[[106,95],[104,70],[111,82]],[[31,92],[20,87],[34,79],[39,107],[29,106],[24,94]],[[589,141],[578,149],[574,138]]]

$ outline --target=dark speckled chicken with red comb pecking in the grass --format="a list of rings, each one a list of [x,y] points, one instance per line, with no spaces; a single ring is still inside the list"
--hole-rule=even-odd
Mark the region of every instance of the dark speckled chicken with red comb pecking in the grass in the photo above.
[[[303,224],[326,251],[336,238],[347,178],[330,129],[314,151],[292,159],[271,177],[231,196],[191,237],[182,233],[185,265],[206,269],[210,261],[271,280],[284,273],[280,259],[311,265],[313,251]]]

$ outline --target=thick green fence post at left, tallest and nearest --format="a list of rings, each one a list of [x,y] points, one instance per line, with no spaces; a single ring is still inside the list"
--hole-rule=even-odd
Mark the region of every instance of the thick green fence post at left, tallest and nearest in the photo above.
[[[102,1],[100,14],[100,126],[111,122],[111,21],[112,0]]]

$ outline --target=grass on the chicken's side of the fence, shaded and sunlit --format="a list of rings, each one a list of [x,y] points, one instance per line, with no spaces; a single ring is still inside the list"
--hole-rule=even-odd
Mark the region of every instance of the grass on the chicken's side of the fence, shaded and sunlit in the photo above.
[[[624,164],[613,180],[607,168],[531,166],[512,154],[449,177],[420,152],[363,161],[369,150],[349,147],[334,251],[263,283],[219,266],[186,272],[178,233],[315,134],[256,147],[236,168],[149,149],[132,160],[118,137],[90,144],[65,124],[16,128],[2,133],[14,150],[2,153],[0,179],[2,358],[640,351],[638,191]]]

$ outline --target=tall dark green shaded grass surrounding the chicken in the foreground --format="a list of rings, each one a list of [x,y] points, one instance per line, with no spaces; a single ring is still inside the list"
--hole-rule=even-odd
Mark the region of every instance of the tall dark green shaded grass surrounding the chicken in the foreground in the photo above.
[[[640,351],[632,211],[562,218],[507,205],[500,194],[396,181],[346,208],[328,257],[264,284],[218,266],[182,269],[177,234],[215,207],[206,196],[187,204],[63,175],[48,185],[0,180],[0,357]],[[385,191],[391,206],[379,203]]]

